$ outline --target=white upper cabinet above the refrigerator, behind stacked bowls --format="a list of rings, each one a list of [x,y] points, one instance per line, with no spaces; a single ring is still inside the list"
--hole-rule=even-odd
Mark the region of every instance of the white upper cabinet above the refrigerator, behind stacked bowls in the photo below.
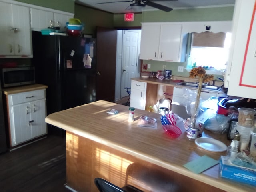
[[[66,22],[73,18],[72,13],[57,12],[52,10],[41,10],[30,8],[31,13],[31,28],[34,31],[41,31],[50,26],[60,27],[60,30],[65,30]]]

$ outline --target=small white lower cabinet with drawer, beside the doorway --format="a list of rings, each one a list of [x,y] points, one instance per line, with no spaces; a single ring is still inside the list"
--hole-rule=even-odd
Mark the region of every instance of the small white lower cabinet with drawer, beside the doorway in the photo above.
[[[130,106],[136,109],[145,110],[147,83],[134,81],[131,83]]]

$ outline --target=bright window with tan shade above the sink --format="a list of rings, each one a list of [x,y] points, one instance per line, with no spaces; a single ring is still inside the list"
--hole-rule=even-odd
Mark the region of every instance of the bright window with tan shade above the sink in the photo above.
[[[221,74],[226,69],[230,40],[231,33],[193,33],[187,68],[202,66],[208,73]]]

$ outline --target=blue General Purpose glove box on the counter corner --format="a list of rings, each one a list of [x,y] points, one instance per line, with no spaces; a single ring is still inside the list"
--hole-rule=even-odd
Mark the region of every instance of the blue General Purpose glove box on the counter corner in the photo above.
[[[256,170],[236,166],[228,161],[228,157],[220,157],[220,176],[234,181],[256,186]]]

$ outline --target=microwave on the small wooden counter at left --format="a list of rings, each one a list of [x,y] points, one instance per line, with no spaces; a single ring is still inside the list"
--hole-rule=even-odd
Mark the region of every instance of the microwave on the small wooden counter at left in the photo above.
[[[34,84],[34,67],[3,68],[1,82],[3,88]]]

